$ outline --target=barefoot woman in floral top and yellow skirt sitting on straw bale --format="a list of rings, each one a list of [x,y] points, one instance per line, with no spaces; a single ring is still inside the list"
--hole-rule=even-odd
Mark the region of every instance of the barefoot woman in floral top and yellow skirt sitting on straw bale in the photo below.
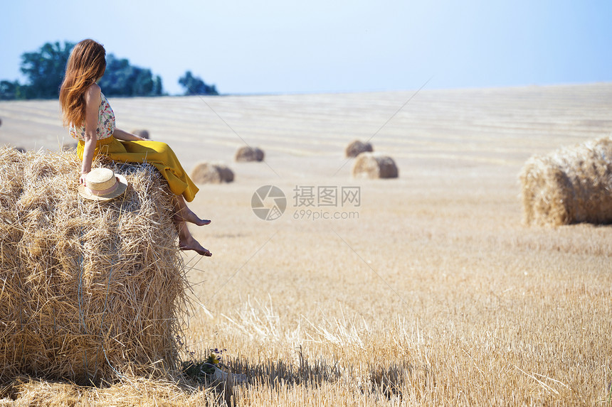
[[[75,45],[60,89],[64,124],[70,126],[70,135],[78,139],[77,154],[83,160],[79,183],[85,185],[85,177],[98,154],[114,161],[146,161],[154,165],[175,195],[173,219],[179,230],[180,249],[211,256],[187,229],[185,222],[204,226],[211,221],[200,219],[187,207],[185,200],[194,200],[198,188],[185,173],[174,151],[166,143],[149,141],[115,128],[115,114],[95,83],[106,70],[105,55],[104,47],[94,40],[83,40]]]

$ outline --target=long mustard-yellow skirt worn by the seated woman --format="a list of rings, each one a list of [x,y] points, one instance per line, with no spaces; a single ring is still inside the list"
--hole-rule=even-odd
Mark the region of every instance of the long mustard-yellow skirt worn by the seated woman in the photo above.
[[[79,140],[77,154],[81,161],[83,161],[83,148],[85,148],[85,141]],[[172,148],[166,143],[159,141],[122,141],[110,136],[95,143],[94,158],[98,154],[122,163],[147,162],[154,165],[168,181],[170,190],[175,195],[183,195],[187,202],[194,200],[196,192],[199,191],[189,175],[185,173]]]

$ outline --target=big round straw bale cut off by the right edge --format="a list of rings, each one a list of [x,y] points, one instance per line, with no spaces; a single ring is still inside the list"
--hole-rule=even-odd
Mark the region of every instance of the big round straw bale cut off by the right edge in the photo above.
[[[532,156],[519,175],[526,224],[612,222],[612,140]]]

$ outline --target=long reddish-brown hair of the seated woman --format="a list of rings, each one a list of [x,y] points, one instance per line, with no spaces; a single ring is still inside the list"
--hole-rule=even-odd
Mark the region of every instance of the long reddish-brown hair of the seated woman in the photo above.
[[[64,126],[85,123],[85,90],[104,75],[105,57],[104,46],[94,40],[82,40],[74,46],[60,87]]]

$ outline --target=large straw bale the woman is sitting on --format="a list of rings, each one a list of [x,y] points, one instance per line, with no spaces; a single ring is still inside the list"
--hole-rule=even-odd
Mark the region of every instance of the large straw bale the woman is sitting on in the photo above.
[[[130,186],[94,202],[77,193],[74,153],[0,148],[0,379],[177,368],[186,277],[172,192],[151,165],[105,166]]]

